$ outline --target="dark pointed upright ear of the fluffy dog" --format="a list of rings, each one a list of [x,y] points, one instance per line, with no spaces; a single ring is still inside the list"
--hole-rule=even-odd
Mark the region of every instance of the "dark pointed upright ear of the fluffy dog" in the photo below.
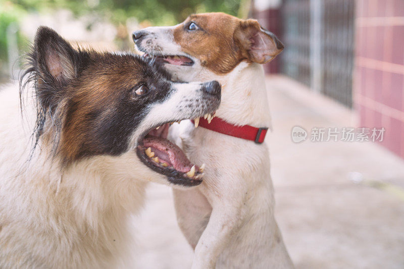
[[[34,41],[36,69],[46,83],[65,86],[76,77],[78,52],[53,29],[41,26]]]

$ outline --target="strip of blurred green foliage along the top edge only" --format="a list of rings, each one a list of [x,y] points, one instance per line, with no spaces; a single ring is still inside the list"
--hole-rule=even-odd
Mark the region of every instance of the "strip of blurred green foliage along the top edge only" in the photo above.
[[[154,25],[178,23],[199,12],[221,11],[236,16],[240,6],[239,0],[15,0],[13,3],[27,11],[66,8],[77,16],[96,13],[115,24],[135,17],[139,22],[147,20]]]

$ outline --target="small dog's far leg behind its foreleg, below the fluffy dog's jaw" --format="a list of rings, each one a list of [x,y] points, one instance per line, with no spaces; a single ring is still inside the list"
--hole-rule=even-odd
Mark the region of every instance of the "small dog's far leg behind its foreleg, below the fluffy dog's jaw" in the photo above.
[[[212,206],[198,188],[173,189],[178,226],[193,249],[208,225]]]

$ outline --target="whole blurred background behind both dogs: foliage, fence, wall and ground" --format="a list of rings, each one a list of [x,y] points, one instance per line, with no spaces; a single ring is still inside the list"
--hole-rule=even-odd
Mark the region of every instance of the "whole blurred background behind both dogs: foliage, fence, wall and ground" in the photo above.
[[[403,0],[0,0],[0,84],[17,77],[39,25],[80,45],[133,50],[134,30],[217,11],[256,18],[285,44],[265,65],[266,143],[296,267],[404,268]],[[293,140],[295,126],[305,140]],[[373,141],[373,128],[383,137]],[[313,139],[319,129],[324,139]],[[131,266],[190,267],[170,188],[152,184],[147,196]]]

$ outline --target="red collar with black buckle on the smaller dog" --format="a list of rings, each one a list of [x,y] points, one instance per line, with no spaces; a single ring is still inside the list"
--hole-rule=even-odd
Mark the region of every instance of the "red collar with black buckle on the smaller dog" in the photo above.
[[[211,123],[208,123],[208,120],[205,120],[204,118],[200,118],[199,126],[221,134],[238,137],[245,140],[251,140],[256,142],[257,144],[261,144],[264,142],[265,135],[268,131],[268,128],[256,128],[249,125],[236,126],[225,122],[218,117],[213,118]]]

